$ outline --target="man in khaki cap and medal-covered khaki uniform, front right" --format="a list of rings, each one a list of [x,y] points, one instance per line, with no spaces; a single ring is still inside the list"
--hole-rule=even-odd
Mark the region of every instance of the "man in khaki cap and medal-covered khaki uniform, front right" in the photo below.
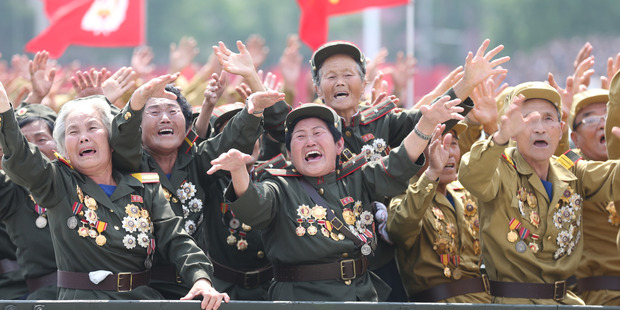
[[[560,98],[542,82],[517,85],[499,130],[461,162],[459,181],[480,204],[494,303],[583,304],[565,281],[582,259],[583,201],[620,196],[618,161],[552,156],[565,126]]]

